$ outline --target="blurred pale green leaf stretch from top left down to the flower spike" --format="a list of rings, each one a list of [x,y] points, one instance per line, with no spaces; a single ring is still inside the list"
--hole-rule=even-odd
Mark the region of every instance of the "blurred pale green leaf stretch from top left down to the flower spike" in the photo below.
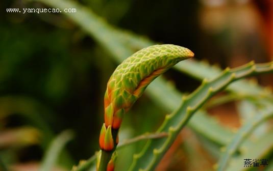
[[[89,33],[99,44],[105,47],[109,53],[114,54],[118,61],[123,61],[130,56],[133,52],[131,49],[123,46],[120,42],[116,41],[115,34],[109,32],[113,28],[109,26],[106,21],[97,17],[88,8],[85,8],[73,1],[55,1],[55,0],[28,0],[38,1],[55,8],[63,9],[77,9],[76,13],[63,13],[67,15],[73,22],[79,24],[83,30]]]

